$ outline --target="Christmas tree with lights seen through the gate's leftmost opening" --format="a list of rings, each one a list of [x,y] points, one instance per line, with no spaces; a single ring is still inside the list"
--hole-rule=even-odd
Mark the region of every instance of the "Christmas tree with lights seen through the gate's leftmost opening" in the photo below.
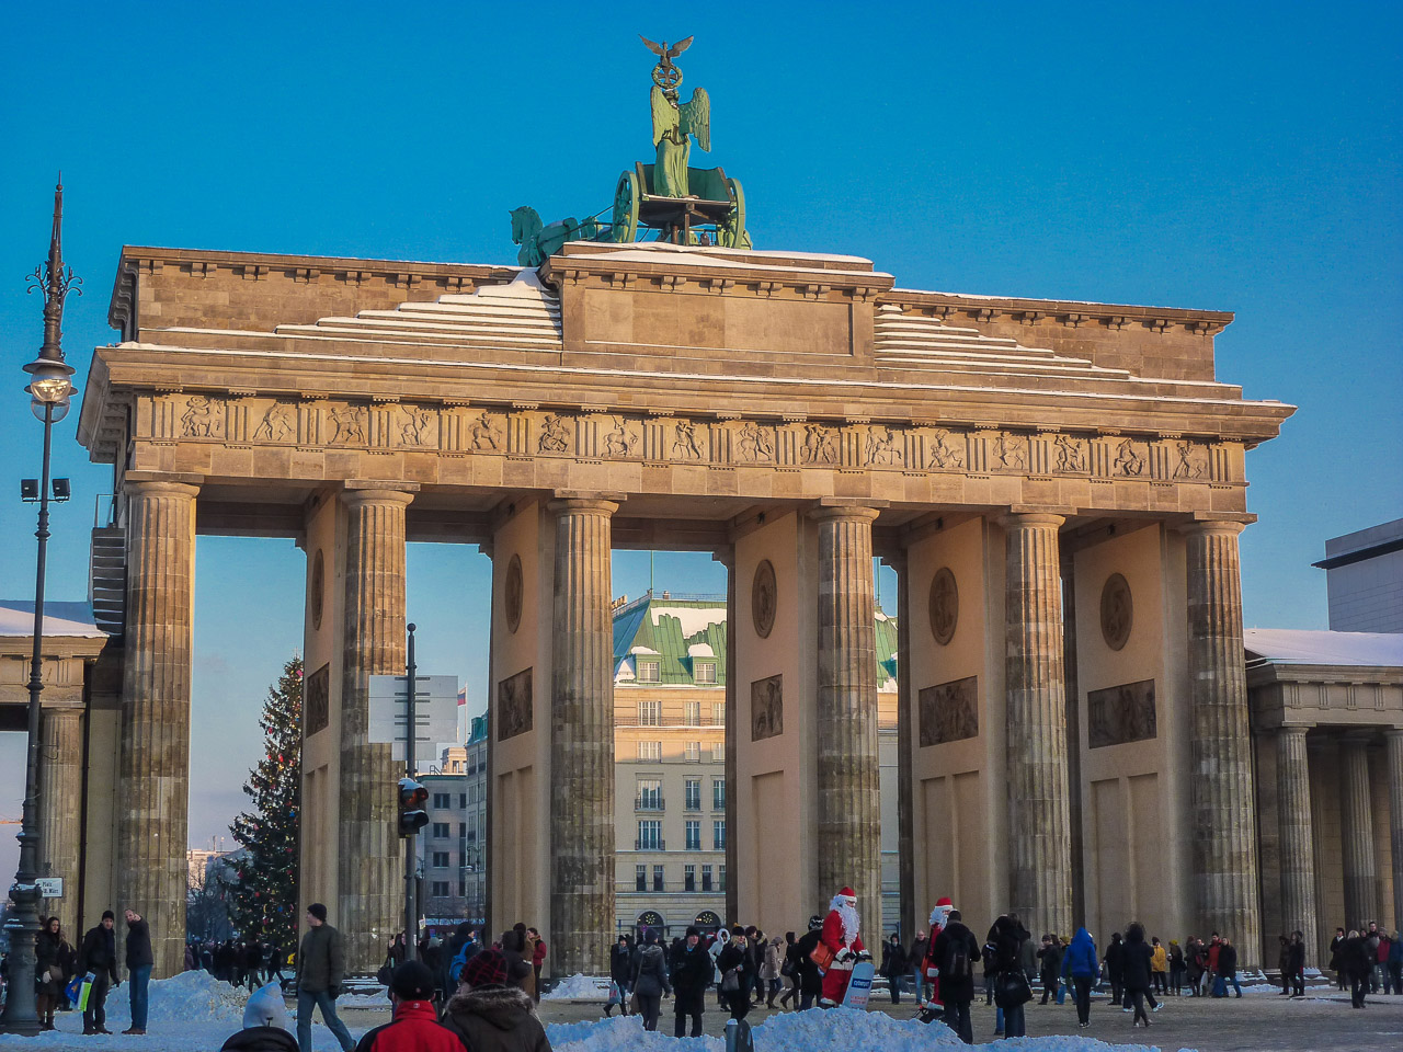
[[[260,725],[264,757],[244,793],[253,812],[229,828],[246,851],[233,886],[233,923],[240,938],[271,944],[286,955],[297,938],[297,818],[302,788],[302,658],[293,658],[268,689]]]

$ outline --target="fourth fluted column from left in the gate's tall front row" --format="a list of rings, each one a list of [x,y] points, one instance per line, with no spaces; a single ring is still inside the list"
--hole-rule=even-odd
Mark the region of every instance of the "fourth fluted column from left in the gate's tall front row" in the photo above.
[[[857,892],[863,929],[881,931],[877,756],[875,508],[819,508],[818,891]],[[875,938],[875,936],[873,936]]]

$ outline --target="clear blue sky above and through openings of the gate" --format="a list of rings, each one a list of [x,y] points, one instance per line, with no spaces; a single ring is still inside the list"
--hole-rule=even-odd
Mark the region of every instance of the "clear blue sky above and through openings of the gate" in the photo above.
[[[1323,627],[1326,537],[1403,515],[1397,4],[159,4],[0,14],[0,588],[32,592],[39,345],[22,275],[55,174],[86,281],[81,387],[122,244],[509,262],[506,212],[592,213],[647,157],[636,32],[696,34],[711,160],[759,247],[866,255],[908,288],[1236,311],[1219,379],[1301,407],[1249,454],[1249,624]],[[8,390],[8,396],[4,391]],[[86,592],[109,471],[76,412],[56,470],[49,593]],[[483,692],[485,560],[414,546],[428,670]],[[289,541],[198,550],[192,840],[220,832],[258,703],[299,645]],[[720,588],[659,555],[658,586]],[[647,555],[616,591],[647,586]],[[7,738],[18,738],[8,735]],[[0,742],[0,770],[18,756]],[[18,812],[18,783],[0,812]],[[4,871],[0,847],[0,872]]]

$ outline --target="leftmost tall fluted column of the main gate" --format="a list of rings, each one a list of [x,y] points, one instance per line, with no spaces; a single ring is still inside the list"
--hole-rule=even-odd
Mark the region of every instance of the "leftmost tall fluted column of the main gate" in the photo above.
[[[128,481],[116,902],[152,926],[157,978],[185,964],[195,494]],[[76,875],[76,874],[74,874]],[[94,915],[108,903],[90,908]]]

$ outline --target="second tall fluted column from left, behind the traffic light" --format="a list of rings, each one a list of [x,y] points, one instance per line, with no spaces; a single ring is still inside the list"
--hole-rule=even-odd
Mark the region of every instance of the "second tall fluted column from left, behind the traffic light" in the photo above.
[[[412,492],[348,488],[345,623],[341,637],[341,819],[337,829],[337,929],[347,971],[373,972],[403,927],[404,868],[394,785],[403,769],[390,745],[372,745],[370,676],[403,676],[404,513]],[[307,889],[317,899],[314,888]]]

